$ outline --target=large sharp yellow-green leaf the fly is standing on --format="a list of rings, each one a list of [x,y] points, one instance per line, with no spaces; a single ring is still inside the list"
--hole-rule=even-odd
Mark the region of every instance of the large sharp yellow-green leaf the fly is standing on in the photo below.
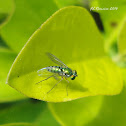
[[[48,94],[58,82],[56,79],[36,84],[45,79],[38,76],[37,70],[56,65],[46,52],[78,72],[75,80],[68,83],[64,79]],[[7,83],[29,97],[52,102],[118,94],[122,89],[120,70],[104,55],[103,39],[88,11],[63,8],[30,38],[12,65]]]

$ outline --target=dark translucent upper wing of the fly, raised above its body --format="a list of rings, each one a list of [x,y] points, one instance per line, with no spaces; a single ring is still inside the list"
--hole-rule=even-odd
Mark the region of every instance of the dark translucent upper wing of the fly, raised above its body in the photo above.
[[[63,67],[66,67],[68,68],[68,66],[66,64],[64,64],[61,60],[59,60],[56,56],[54,56],[53,54],[51,53],[46,53],[47,56],[56,64],[60,65],[60,66],[63,66]]]

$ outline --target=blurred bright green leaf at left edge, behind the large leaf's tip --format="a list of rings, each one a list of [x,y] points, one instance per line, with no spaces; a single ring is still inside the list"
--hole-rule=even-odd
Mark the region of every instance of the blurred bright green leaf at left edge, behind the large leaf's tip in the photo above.
[[[24,99],[25,96],[7,84],[6,78],[16,55],[7,49],[0,49],[0,102]]]

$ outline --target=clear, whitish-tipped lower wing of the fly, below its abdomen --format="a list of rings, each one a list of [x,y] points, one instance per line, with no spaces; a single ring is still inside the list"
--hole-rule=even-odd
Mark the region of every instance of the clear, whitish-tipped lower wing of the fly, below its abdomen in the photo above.
[[[40,70],[37,71],[37,74],[38,76],[40,77],[45,77],[45,78],[48,78],[48,77],[54,77],[56,80],[59,80],[59,76],[58,74],[56,73],[52,73],[52,72],[49,72],[46,67],[45,68],[42,68]]]

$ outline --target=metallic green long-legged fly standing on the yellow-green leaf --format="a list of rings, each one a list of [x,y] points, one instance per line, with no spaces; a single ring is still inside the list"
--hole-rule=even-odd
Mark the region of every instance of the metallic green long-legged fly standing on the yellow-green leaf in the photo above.
[[[62,61],[60,61],[53,54],[51,54],[51,53],[46,53],[46,54],[54,63],[56,63],[60,66],[48,66],[48,67],[44,67],[44,68],[38,70],[37,73],[39,76],[47,77],[46,79],[41,80],[38,83],[45,81],[51,77],[54,77],[56,80],[59,80],[59,77],[61,77],[61,79],[47,92],[47,93],[49,93],[59,82],[61,82],[63,80],[63,78],[65,78],[65,80],[67,82],[69,82],[67,80],[67,78],[71,78],[71,80],[74,80],[77,76],[77,71],[72,70],[71,68],[67,67],[67,65],[65,65]],[[36,83],[36,84],[38,84],[38,83]]]

